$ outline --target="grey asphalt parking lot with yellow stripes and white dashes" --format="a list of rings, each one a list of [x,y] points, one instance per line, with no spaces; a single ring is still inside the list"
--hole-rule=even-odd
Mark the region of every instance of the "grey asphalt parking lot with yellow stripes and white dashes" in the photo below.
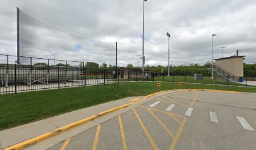
[[[49,148],[256,149],[256,94],[174,91]]]

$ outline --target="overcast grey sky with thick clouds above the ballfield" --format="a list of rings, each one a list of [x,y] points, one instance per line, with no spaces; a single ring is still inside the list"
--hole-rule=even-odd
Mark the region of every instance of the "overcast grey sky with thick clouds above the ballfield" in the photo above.
[[[22,11],[21,53],[26,56],[53,58],[51,53],[56,53],[56,59],[114,65],[117,41],[118,66],[139,65],[142,0],[1,0],[0,54],[16,54],[16,6]],[[168,65],[167,31],[174,65],[211,61],[212,33],[217,34],[214,58],[221,58],[220,47],[225,46],[224,57],[240,49],[245,63],[256,63],[255,8],[255,0],[148,0],[146,64]]]

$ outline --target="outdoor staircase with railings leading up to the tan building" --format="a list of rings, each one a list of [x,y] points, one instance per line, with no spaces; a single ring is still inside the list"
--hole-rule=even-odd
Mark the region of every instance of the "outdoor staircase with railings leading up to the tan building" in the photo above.
[[[228,73],[228,71],[225,71],[224,69],[220,68],[219,66],[213,65],[212,69],[214,73],[220,75],[222,78],[225,78],[227,81],[230,81],[232,83],[238,83],[239,78],[234,76],[232,73]]]

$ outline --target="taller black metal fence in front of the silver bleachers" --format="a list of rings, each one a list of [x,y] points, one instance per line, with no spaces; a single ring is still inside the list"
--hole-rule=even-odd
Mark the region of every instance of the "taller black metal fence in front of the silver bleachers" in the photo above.
[[[115,70],[84,66],[0,65],[0,94],[118,83]]]

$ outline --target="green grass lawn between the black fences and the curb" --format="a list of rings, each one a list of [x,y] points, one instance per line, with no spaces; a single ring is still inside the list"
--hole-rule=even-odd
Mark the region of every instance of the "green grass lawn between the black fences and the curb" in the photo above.
[[[156,83],[120,83],[3,94],[0,95],[0,130],[128,96],[146,96],[168,89],[178,89],[178,84],[162,83],[161,88],[157,88]],[[256,93],[256,88],[204,84],[182,84],[181,89],[220,89]]]

